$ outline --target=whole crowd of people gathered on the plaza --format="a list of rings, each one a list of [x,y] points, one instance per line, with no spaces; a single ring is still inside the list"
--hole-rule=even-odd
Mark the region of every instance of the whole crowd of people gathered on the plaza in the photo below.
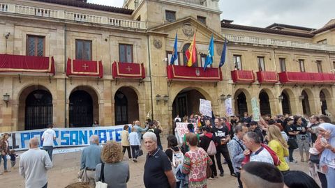
[[[179,122],[186,123],[187,133],[183,136],[176,128]],[[161,143],[163,128],[157,120],[146,120],[144,127],[139,120],[124,125],[121,143],[107,141],[99,146],[99,137],[92,135],[90,145],[82,151],[80,182],[68,188],[95,187],[97,182],[107,187],[127,187],[130,169],[124,154],[127,151],[128,159],[137,162],[137,157],[143,155],[142,148],[147,150],[145,187],[207,187],[207,180],[217,181],[218,176],[224,176],[223,164],[237,178],[239,188],[334,185],[335,125],[327,116],[266,115],[256,122],[248,113],[242,118],[192,114],[182,120],[174,118],[173,129],[165,150]],[[26,187],[47,187],[46,171],[53,166],[52,125],[41,138],[43,150],[38,139],[33,138],[30,149],[20,156],[20,175]],[[298,163],[293,157],[295,150],[299,150],[299,162],[308,165],[309,175],[290,171],[290,164]],[[0,139],[0,153],[6,173],[6,155],[16,155],[8,149],[8,134]]]

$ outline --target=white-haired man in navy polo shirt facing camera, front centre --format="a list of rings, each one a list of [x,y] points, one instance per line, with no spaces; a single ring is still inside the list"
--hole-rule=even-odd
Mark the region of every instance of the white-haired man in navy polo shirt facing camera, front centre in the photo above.
[[[144,164],[144,185],[147,188],[174,188],[176,179],[172,172],[168,155],[157,146],[157,137],[153,132],[143,134],[144,146],[147,149],[147,160]]]

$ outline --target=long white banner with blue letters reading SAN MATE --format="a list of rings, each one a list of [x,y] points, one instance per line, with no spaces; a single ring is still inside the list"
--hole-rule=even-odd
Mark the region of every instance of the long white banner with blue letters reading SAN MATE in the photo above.
[[[40,141],[40,137],[45,130],[46,129],[8,132],[9,148],[15,150],[28,150],[29,140],[36,137],[38,138],[38,141]],[[124,125],[108,127],[54,128],[53,130],[56,132],[54,148],[75,147],[89,146],[89,137],[91,135],[98,135],[100,138],[99,143],[106,143],[110,140],[121,142],[121,132],[124,130]],[[43,142],[40,143],[40,146],[43,146]]]

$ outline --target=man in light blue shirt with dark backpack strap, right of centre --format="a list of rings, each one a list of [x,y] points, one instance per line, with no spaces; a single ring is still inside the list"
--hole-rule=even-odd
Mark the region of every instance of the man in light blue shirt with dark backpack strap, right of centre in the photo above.
[[[246,146],[244,146],[242,142],[243,136],[244,134],[246,134],[246,132],[248,132],[248,127],[236,125],[234,127],[234,137],[228,143],[228,150],[232,159],[232,166],[234,167],[234,172],[237,175],[237,182],[239,183],[239,188],[243,188],[240,169],[244,159],[244,150],[246,150]]]

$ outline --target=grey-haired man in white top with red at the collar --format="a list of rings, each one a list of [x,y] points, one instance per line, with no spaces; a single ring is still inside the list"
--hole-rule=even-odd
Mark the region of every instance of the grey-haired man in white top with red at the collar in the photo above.
[[[251,162],[266,162],[274,164],[270,153],[263,148],[260,141],[260,136],[255,132],[247,132],[243,136],[243,143],[247,150],[244,150],[244,156],[250,155]]]

